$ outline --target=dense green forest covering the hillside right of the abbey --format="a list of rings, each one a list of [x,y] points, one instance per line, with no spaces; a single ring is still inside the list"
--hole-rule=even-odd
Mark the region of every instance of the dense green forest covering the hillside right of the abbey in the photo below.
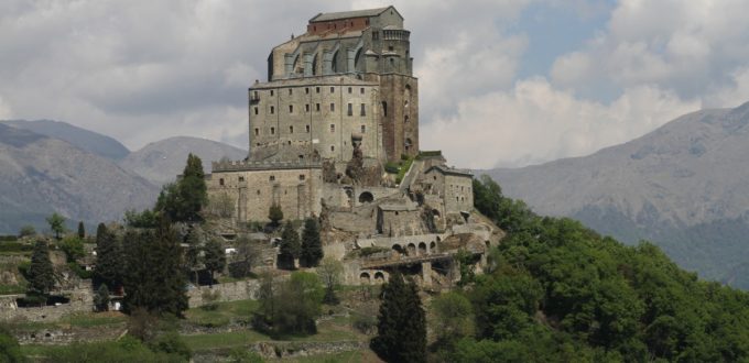
[[[454,362],[741,361],[749,295],[680,270],[653,244],[623,246],[569,219],[541,218],[474,182],[476,208],[508,235],[489,274],[460,292],[476,338]]]

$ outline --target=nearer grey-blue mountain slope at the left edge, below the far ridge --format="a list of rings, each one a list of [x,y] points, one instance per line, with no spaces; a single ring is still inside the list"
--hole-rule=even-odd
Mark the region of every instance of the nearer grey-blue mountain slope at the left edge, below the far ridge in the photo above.
[[[70,227],[120,220],[153,205],[159,188],[111,160],[65,141],[0,123],[0,233],[47,230],[56,211]]]

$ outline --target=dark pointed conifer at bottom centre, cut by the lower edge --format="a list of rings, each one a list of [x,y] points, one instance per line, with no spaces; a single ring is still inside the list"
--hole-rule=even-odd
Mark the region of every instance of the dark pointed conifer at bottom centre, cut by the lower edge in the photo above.
[[[426,318],[413,280],[390,276],[380,294],[371,349],[387,362],[426,362]]]

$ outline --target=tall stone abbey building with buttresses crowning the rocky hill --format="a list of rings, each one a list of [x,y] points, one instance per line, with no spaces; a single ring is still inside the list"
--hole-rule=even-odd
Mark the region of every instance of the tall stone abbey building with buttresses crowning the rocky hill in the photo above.
[[[319,13],[275,46],[268,81],[249,88],[249,158],[380,162],[419,152],[410,32],[393,7]]]

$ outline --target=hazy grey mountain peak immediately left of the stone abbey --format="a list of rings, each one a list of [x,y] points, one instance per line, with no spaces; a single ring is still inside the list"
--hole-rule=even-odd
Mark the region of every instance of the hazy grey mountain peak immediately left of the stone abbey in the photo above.
[[[203,169],[210,173],[210,162],[222,157],[241,160],[247,151],[216,141],[197,138],[170,138],[145,145],[132,152],[120,162],[120,166],[132,170],[155,185],[174,182],[185,168],[187,155],[193,153],[203,161]]]

